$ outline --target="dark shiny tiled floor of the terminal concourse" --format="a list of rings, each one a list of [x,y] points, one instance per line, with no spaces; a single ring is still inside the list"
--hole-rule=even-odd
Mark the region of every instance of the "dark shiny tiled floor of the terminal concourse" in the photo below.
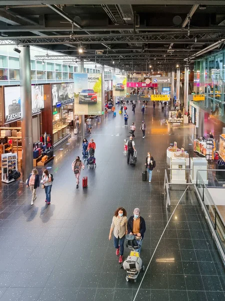
[[[191,150],[193,128],[169,128],[166,112],[148,105],[144,116],[128,105],[128,127],[123,115],[109,112],[93,121],[96,169],[87,169],[88,188],[76,189],[71,163],[81,156],[83,137],[74,136],[55,149],[48,166],[54,176],[51,204],[44,191],[30,206],[25,184],[0,184],[0,301],[223,301],[225,272],[192,189],[187,189],[162,236],[143,281],[127,282],[113,241],[108,240],[112,216],[124,207],[128,217],[135,207],[146,222],[140,257],[145,270],[162,231],[182,196],[172,191],[170,210],[164,199],[166,148],[174,140]],[[140,123],[146,123],[142,138]],[[127,165],[123,155],[129,125],[135,122],[137,164]],[[151,183],[141,181],[145,157],[156,162]],[[41,170],[38,170],[41,175]],[[81,182],[81,181],[80,181]],[[124,245],[124,258],[129,250]],[[139,286],[140,285],[140,286]]]

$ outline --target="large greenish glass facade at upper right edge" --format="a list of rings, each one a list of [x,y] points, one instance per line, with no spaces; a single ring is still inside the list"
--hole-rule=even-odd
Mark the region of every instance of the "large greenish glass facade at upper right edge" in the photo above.
[[[195,101],[200,108],[225,122],[225,50],[194,62],[193,94],[204,94],[204,101]]]

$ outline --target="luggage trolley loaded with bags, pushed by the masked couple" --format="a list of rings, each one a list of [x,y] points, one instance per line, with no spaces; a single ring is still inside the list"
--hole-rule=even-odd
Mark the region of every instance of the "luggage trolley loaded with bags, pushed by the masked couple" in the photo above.
[[[126,281],[132,279],[136,282],[136,278],[139,272],[144,271],[144,265],[142,265],[142,260],[140,258],[140,246],[142,237],[135,235],[126,235],[126,247],[131,249],[129,256],[123,261],[122,267],[126,270]]]

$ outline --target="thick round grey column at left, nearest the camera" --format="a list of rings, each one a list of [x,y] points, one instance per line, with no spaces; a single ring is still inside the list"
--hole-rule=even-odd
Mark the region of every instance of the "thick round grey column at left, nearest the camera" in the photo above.
[[[21,46],[19,54],[20,110],[22,129],[22,181],[33,169],[32,100],[29,46]]]

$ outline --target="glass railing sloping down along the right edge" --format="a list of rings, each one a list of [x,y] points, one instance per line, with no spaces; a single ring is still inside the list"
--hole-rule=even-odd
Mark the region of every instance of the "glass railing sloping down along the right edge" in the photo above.
[[[219,245],[223,250],[223,254],[225,254],[225,203],[221,201],[223,198],[222,189],[225,189],[225,187],[222,186],[222,183],[216,181],[216,171],[217,170],[207,171],[209,173],[207,176],[209,180],[203,180],[200,172],[197,171],[196,189],[202,201],[202,205],[207,212],[207,216],[205,216],[206,220],[213,226]]]

